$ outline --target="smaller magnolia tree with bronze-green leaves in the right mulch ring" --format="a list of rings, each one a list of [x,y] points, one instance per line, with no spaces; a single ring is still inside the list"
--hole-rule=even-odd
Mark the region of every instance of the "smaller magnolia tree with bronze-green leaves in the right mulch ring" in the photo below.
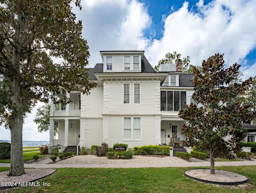
[[[186,124],[182,133],[187,136],[186,146],[201,146],[209,151],[210,173],[214,174],[214,159],[222,154],[232,157],[231,151],[239,150],[239,142],[246,137],[243,123],[255,117],[251,104],[240,101],[226,105],[228,101],[243,94],[252,84],[252,78],[242,83],[232,83],[240,65],[224,68],[223,55],[215,54],[202,62],[202,71],[193,67],[195,104],[186,105],[179,112]],[[198,105],[196,105],[198,104]]]

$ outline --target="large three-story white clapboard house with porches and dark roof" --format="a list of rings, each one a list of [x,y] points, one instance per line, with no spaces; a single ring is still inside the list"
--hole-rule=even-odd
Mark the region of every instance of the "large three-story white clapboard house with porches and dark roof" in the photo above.
[[[71,103],[55,110],[51,102],[50,145],[85,147],[103,141],[129,148],[178,142],[184,120],[178,111],[193,103],[193,74],[181,74],[181,62],[156,72],[144,51],[100,51],[102,64],[89,68],[98,87],[90,95],[67,93]],[[54,139],[58,121],[58,139]]]

